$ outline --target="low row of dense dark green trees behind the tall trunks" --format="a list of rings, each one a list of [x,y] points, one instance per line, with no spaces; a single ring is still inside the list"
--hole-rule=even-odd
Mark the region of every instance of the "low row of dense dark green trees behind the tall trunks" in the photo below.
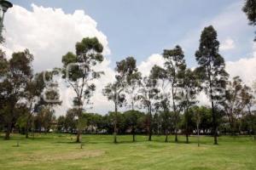
[[[256,121],[256,116],[244,115],[236,119],[235,126],[230,129],[230,122],[223,111],[217,111],[218,127],[221,134],[253,134],[251,122]],[[136,141],[136,134],[148,133],[148,116],[142,111],[125,111],[118,112],[117,117],[114,112],[109,112],[107,115],[84,113],[86,123],[83,128],[83,133],[112,134],[114,132],[114,120],[117,119],[117,132],[120,134],[131,134],[132,141]],[[166,142],[168,142],[168,133],[175,133],[175,125],[171,123],[176,118],[173,111],[160,111],[152,117],[152,131],[156,135],[166,134]],[[177,128],[179,133],[186,135],[186,141],[189,143],[190,134],[212,134],[212,110],[206,106],[193,106],[189,112],[178,117],[179,122]],[[59,133],[77,133],[78,119],[73,109],[67,111],[66,116],[60,116],[51,127]],[[49,130],[49,129],[48,129]]]

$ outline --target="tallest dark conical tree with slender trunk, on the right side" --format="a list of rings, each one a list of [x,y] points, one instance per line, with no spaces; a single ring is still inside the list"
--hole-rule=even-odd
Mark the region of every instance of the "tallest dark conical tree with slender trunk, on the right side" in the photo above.
[[[202,87],[212,103],[212,133],[214,144],[218,144],[218,126],[217,117],[214,111],[219,101],[224,99],[223,92],[228,73],[225,71],[224,58],[218,54],[219,42],[217,32],[212,26],[208,26],[201,33],[199,49],[195,53],[195,59],[198,62],[197,73],[201,77]]]

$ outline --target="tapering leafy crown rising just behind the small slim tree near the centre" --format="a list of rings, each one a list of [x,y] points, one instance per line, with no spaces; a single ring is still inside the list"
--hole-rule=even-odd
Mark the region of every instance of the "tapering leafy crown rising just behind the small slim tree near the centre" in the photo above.
[[[127,57],[117,62],[116,71],[125,81],[126,95],[129,96],[129,102],[131,102],[131,110],[134,110],[135,103],[137,101],[137,88],[139,87],[142,79],[142,74],[137,70],[136,59],[133,57]],[[128,100],[128,99],[127,99]]]

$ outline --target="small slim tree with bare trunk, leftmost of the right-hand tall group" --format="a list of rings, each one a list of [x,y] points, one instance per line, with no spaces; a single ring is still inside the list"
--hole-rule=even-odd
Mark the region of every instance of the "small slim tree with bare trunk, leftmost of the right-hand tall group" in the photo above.
[[[118,133],[118,109],[125,104],[125,83],[122,77],[117,76],[116,81],[108,83],[103,89],[103,95],[108,97],[108,100],[113,101],[114,104],[114,118],[113,118],[113,143],[117,143]]]

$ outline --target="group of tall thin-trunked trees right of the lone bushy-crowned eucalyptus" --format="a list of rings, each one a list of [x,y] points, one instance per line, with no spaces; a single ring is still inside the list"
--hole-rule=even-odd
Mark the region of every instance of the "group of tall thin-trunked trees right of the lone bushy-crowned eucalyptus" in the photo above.
[[[173,131],[166,128],[166,139],[168,134],[173,132],[177,141],[180,117],[183,115],[184,120],[187,120],[190,109],[198,103],[198,94],[201,92],[207,94],[212,106],[211,132],[214,144],[218,144],[218,111],[225,112],[234,134],[237,118],[246,114],[253,116],[253,90],[247,87],[240,77],[229,81],[224,58],[218,53],[218,48],[217,32],[212,26],[208,26],[201,33],[200,46],[195,53],[198,67],[193,70],[187,67],[183,49],[179,46],[165,49],[162,54],[164,65],[154,65],[148,77],[142,77],[137,71],[136,59],[128,57],[118,62],[116,81],[109,83],[103,90],[103,94],[113,101],[115,106],[114,142],[117,141],[119,107],[130,103],[134,110],[137,102],[147,111],[148,140],[151,140],[153,133],[153,115],[163,112],[166,115],[163,124],[173,127]],[[188,136],[189,120],[185,125]],[[253,126],[255,122],[251,122],[251,131]]]

